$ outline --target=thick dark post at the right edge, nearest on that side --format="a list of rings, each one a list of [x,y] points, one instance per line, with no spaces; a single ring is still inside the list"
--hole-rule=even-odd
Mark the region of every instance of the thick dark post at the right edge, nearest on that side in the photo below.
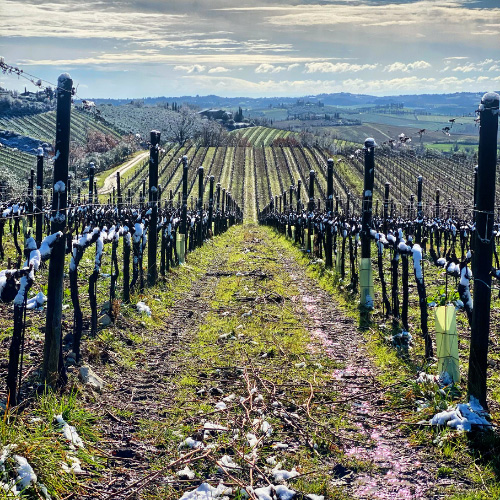
[[[486,408],[486,371],[490,333],[491,263],[497,161],[498,104],[500,96],[487,93],[479,106],[479,152],[477,170],[476,231],[472,274],[474,309],[469,355],[468,393]]]

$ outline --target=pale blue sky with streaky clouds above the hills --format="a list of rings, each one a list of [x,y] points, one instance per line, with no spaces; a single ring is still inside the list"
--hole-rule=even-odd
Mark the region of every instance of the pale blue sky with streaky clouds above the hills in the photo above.
[[[0,19],[7,64],[82,98],[500,89],[500,0],[1,0]]]

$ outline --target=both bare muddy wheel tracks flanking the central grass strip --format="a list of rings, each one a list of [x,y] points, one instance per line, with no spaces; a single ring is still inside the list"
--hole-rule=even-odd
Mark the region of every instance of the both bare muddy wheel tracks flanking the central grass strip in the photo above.
[[[254,231],[258,234],[259,229]],[[231,239],[227,241],[231,245]],[[267,244],[265,239],[256,241],[257,247]],[[224,256],[244,250],[231,247]],[[211,310],[209,304],[216,284],[221,276],[228,274],[224,256],[187,287],[172,306],[164,328],[150,332],[150,342],[144,344],[142,354],[136,359],[137,367],[100,373],[113,387],[100,395],[91,408],[102,417],[99,430],[103,439],[99,448],[108,457],[107,467],[103,476],[90,485],[88,494],[80,498],[141,498],[142,492],[161,482],[162,474],[155,474],[151,464],[163,450],[141,439],[138,431],[144,421],[161,421],[172,404],[169,377],[177,367],[170,360],[173,353],[190,341]],[[438,468],[448,464],[436,463],[428,450],[413,445],[405,437],[401,430],[404,422],[387,401],[391,388],[382,387],[377,381],[377,369],[364,349],[363,335],[354,320],[307,277],[303,265],[291,253],[283,255],[276,251],[272,258],[284,266],[300,292],[301,308],[308,316],[304,323],[311,337],[321,339],[328,355],[342,366],[331,382],[339,393],[332,411],[345,413],[350,427],[362,436],[352,439],[348,429],[342,430],[339,435],[343,451],[348,457],[371,464],[365,470],[336,466],[331,481],[343,486],[352,497],[366,500],[437,500],[444,498],[444,491],[450,486],[466,489],[467,481],[456,471],[453,479],[439,478]],[[259,280],[255,280],[256,289],[259,286]],[[118,327],[124,331],[128,328],[126,323],[118,323]],[[131,416],[115,415],[111,409],[116,408],[130,412]]]

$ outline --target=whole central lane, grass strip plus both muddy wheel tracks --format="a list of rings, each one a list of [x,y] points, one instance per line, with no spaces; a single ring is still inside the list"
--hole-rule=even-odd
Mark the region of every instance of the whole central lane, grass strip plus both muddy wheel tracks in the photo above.
[[[450,487],[467,488],[458,474],[438,478],[442,464],[407,441],[388,404],[391,388],[377,382],[356,324],[307,277],[286,242],[250,225],[215,245],[164,328],[145,330],[148,341],[134,346],[129,326],[121,325],[119,334],[136,347],[134,366],[101,368],[112,390],[93,411],[102,416],[99,446],[109,459],[81,498],[180,498],[202,480],[266,487],[275,474],[266,463],[276,460],[283,469],[295,464],[292,471],[304,471],[302,483],[286,484],[345,494],[335,498],[438,500]],[[216,402],[228,394],[219,408]],[[274,434],[262,430],[264,419]],[[203,431],[207,420],[224,432],[237,429],[233,441]],[[240,444],[245,436],[260,443],[247,455],[248,444]],[[201,443],[193,453],[205,457],[189,464],[193,477],[155,472],[179,456],[186,437]],[[322,439],[328,451],[318,452],[314,443]],[[277,449],[285,451],[276,459]],[[240,459],[229,476],[218,452]],[[309,467],[314,483],[307,482]]]

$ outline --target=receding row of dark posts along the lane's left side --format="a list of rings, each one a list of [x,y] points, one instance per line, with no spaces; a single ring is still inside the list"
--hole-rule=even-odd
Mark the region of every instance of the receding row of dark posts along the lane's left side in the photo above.
[[[67,228],[67,207],[68,207],[68,165],[69,165],[69,146],[70,146],[70,117],[71,117],[71,99],[73,95],[73,80],[64,73],[59,76],[57,85],[57,109],[56,109],[56,142],[54,157],[54,178],[53,186],[58,186],[57,193],[53,193],[51,214],[57,215],[50,218],[50,233],[58,231],[65,233]],[[151,223],[149,225],[150,237],[148,238],[148,284],[153,285],[157,279],[157,226],[158,226],[158,146],[160,142],[160,132],[151,132],[151,149],[149,160],[149,204],[151,208]],[[198,215],[200,224],[196,235],[198,245],[203,242],[203,167],[198,169],[199,188],[198,188]],[[183,157],[183,182],[182,182],[182,208],[181,208],[181,236],[186,238],[187,234],[187,198],[188,198],[188,161]],[[89,203],[92,204],[94,196],[97,199],[97,192],[94,182],[95,169],[93,165],[89,168]],[[38,150],[37,157],[37,188],[36,188],[36,241],[40,245],[42,241],[42,222],[43,222],[43,150]],[[30,198],[33,197],[33,175],[30,180]],[[120,176],[117,175],[117,197],[118,214],[123,204]],[[130,196],[129,196],[130,198]],[[222,202],[222,217],[219,217],[219,202]],[[217,184],[217,214],[214,225],[214,233],[224,230],[222,224],[225,224],[225,209],[241,212],[232,200],[229,193],[221,189]],[[29,210],[32,214],[33,210]],[[214,177],[210,177],[209,194],[209,214],[207,227],[211,229],[214,219]],[[229,221],[233,223],[234,221]],[[185,248],[185,247],[184,247]],[[63,277],[66,252],[66,238],[58,239],[51,252],[48,273],[48,291],[47,291],[47,314],[45,322],[45,343],[42,366],[42,378],[47,385],[55,387],[59,380],[59,374],[63,371],[62,360],[62,298],[63,298]],[[127,266],[128,267],[128,266]],[[125,276],[124,276],[125,279]],[[127,278],[128,280],[128,278]],[[128,281],[127,281],[128,282]]]

